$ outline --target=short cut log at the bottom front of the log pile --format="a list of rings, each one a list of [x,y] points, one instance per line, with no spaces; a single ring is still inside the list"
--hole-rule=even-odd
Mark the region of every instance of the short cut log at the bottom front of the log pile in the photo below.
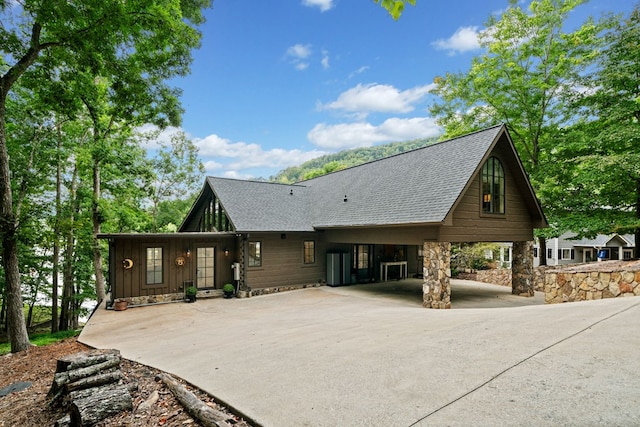
[[[91,396],[74,400],[71,404],[71,425],[90,426],[97,422],[133,409],[133,399],[126,386],[110,390],[93,389]]]

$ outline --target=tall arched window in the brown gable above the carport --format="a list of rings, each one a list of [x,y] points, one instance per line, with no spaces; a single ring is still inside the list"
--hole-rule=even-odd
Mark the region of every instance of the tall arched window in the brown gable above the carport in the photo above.
[[[491,171],[489,171],[491,168]],[[489,182],[490,181],[490,182]],[[489,157],[480,171],[480,214],[482,216],[491,216],[497,218],[505,218],[507,214],[507,183],[505,168],[502,161],[497,156]],[[500,186],[500,183],[502,184]],[[486,189],[485,184],[489,186]],[[496,205],[495,192],[496,185],[500,195],[499,202]],[[497,209],[496,209],[497,206]]]

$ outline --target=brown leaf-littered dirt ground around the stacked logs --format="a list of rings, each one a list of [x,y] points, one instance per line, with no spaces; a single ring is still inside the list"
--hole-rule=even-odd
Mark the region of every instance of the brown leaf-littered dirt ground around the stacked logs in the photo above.
[[[70,338],[45,347],[32,347],[21,353],[0,356],[0,388],[21,381],[32,383],[26,390],[0,397],[0,427],[53,426],[56,420],[65,415],[61,409],[50,409],[46,401],[56,370],[56,361],[67,354],[89,349],[75,338]],[[184,410],[171,391],[162,382],[155,381],[160,371],[126,359],[122,360],[121,370],[125,375],[125,382],[138,384],[138,389],[131,393],[134,409],[110,417],[96,424],[97,426],[199,425]],[[228,414],[228,424],[250,427],[248,422],[217,404],[211,396],[193,387],[187,388],[207,405]],[[158,401],[147,410],[138,410],[139,405],[154,391],[159,394]]]

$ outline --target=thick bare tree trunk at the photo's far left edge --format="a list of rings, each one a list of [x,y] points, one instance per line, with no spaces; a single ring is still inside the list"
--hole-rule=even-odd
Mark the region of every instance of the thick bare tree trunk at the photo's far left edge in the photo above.
[[[7,331],[11,342],[11,352],[17,353],[28,349],[31,343],[29,343],[24,312],[22,311],[22,290],[16,242],[18,224],[13,212],[11,171],[5,127],[6,99],[5,86],[0,85],[0,234],[2,234],[2,264],[7,299]]]

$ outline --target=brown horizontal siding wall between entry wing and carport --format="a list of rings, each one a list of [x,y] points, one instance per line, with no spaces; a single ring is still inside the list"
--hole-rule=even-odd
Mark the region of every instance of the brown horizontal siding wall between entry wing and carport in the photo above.
[[[284,237],[284,238],[283,238]],[[304,264],[303,242],[315,241],[315,264]],[[318,233],[251,233],[260,242],[262,265],[247,267],[251,289],[306,285],[325,279],[325,249]]]

